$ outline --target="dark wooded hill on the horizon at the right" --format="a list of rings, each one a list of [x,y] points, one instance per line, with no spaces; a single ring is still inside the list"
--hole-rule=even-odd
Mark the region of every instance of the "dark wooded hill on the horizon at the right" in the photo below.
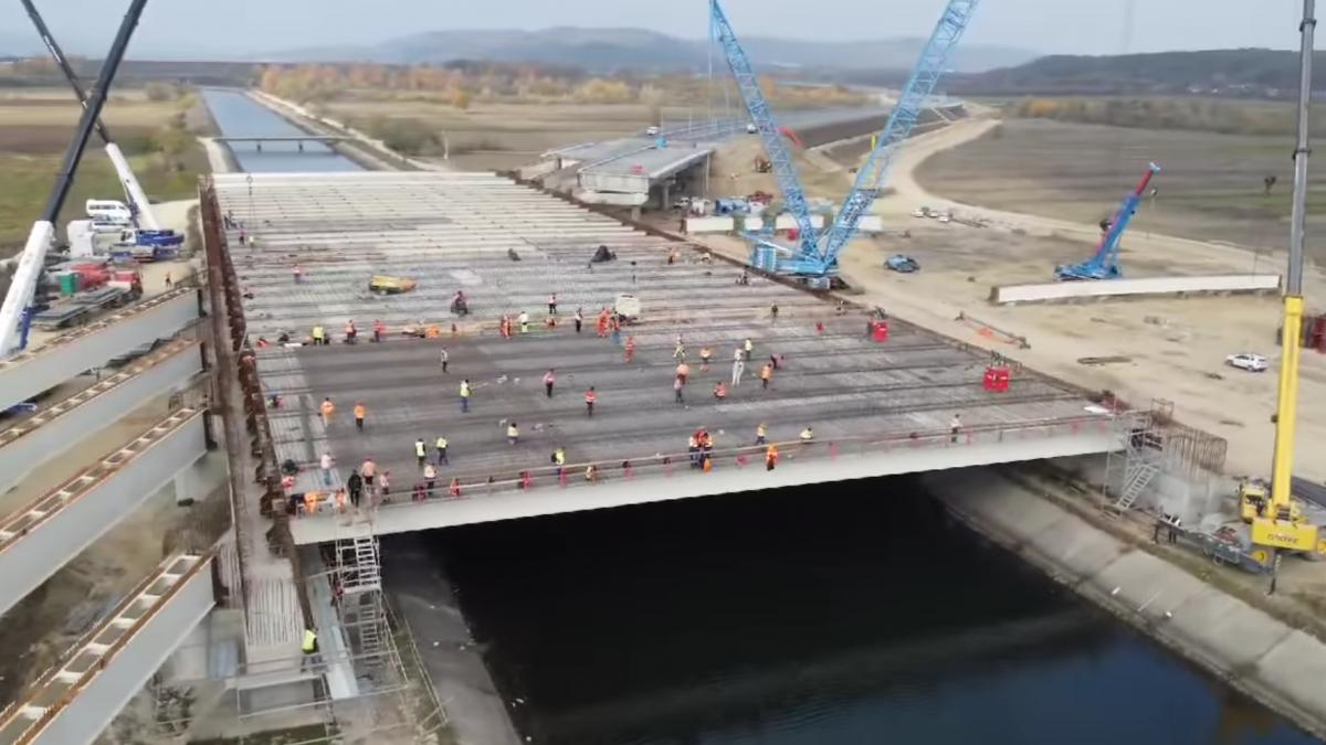
[[[1314,64],[1326,62],[1318,52]],[[965,94],[1193,93],[1285,98],[1298,89],[1298,53],[1213,49],[1114,57],[1053,54],[1030,62],[951,78]]]

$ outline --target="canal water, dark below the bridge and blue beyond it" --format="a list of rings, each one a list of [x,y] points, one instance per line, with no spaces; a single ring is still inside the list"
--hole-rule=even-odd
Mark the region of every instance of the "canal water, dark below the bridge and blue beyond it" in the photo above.
[[[239,94],[206,98],[224,134],[298,131]],[[251,171],[357,170],[244,147]],[[451,578],[533,742],[1315,742],[985,545],[908,479],[387,537],[383,551],[402,541],[427,542]]]

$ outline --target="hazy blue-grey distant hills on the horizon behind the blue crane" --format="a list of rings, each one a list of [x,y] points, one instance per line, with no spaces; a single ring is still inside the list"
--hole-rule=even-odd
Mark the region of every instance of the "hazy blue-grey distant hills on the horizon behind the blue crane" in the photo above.
[[[802,41],[752,36],[743,38],[751,58],[764,69],[839,68],[907,69],[922,38],[878,41]],[[699,70],[707,65],[707,41],[687,40],[639,28],[550,28],[542,30],[438,30],[367,46],[322,46],[264,54],[289,62],[424,64],[452,60],[540,62],[591,72]],[[1004,46],[959,48],[953,66],[979,73],[1021,65],[1034,52]]]

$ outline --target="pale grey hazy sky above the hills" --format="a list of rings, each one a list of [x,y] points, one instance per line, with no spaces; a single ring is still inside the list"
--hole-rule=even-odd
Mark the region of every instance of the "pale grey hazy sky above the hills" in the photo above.
[[[36,0],[76,54],[109,46],[127,0]],[[745,36],[813,40],[927,36],[944,0],[724,0]],[[90,12],[95,7],[95,12]],[[1131,8],[1131,11],[1130,11]],[[1299,0],[985,0],[967,42],[1042,53],[1297,46]],[[1131,17],[1131,23],[1128,19]],[[705,0],[149,0],[130,57],[261,54],[375,44],[422,30],[642,27],[701,38]],[[34,38],[19,3],[0,3],[0,50]]]

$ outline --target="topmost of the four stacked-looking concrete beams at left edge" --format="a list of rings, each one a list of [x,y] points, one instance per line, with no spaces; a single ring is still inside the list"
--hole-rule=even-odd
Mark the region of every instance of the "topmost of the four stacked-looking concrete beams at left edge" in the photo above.
[[[198,318],[198,289],[180,288],[0,361],[0,410],[139,346],[175,335]]]

